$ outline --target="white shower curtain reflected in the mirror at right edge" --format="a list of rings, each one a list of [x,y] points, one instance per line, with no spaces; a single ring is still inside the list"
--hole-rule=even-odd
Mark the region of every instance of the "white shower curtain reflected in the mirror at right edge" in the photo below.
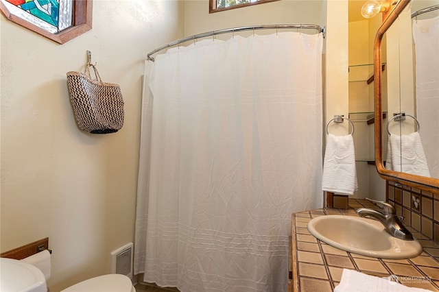
[[[430,175],[439,178],[439,16],[415,20],[416,117]]]

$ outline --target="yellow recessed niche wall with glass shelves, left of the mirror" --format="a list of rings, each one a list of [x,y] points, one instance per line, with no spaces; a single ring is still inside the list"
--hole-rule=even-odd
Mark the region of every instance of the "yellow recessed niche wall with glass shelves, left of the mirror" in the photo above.
[[[348,55],[349,75],[349,112],[370,112],[374,108],[374,85],[366,80],[373,75],[373,44],[377,29],[381,25],[381,14],[372,19],[361,19],[349,23]],[[368,66],[358,66],[366,65]],[[365,160],[375,160],[375,132],[373,125],[366,123],[368,114],[352,114],[355,124],[355,163],[357,167],[358,191],[353,197],[385,200],[385,180],[379,178],[374,165]]]

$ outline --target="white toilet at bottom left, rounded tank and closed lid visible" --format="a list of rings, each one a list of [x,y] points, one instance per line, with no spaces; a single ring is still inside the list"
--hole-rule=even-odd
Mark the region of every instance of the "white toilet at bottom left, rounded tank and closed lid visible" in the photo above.
[[[40,269],[22,260],[0,258],[0,291],[47,292]],[[98,276],[74,284],[62,292],[135,292],[130,278],[117,273]]]

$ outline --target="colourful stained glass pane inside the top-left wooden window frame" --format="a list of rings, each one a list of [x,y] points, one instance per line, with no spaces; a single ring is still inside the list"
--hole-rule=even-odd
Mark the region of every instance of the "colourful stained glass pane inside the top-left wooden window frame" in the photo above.
[[[73,24],[73,0],[1,0],[8,10],[47,32],[57,34]]]

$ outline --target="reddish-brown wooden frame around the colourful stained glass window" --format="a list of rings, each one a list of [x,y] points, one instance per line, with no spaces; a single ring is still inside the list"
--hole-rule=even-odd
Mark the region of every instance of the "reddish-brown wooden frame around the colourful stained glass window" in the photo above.
[[[1,1],[0,10],[9,21],[30,29],[32,32],[36,32],[45,38],[54,40],[59,44],[64,44],[65,42],[88,32],[91,29],[93,22],[93,0],[73,0],[73,24],[71,27],[58,32],[57,34],[47,32],[47,30],[12,14]]]

